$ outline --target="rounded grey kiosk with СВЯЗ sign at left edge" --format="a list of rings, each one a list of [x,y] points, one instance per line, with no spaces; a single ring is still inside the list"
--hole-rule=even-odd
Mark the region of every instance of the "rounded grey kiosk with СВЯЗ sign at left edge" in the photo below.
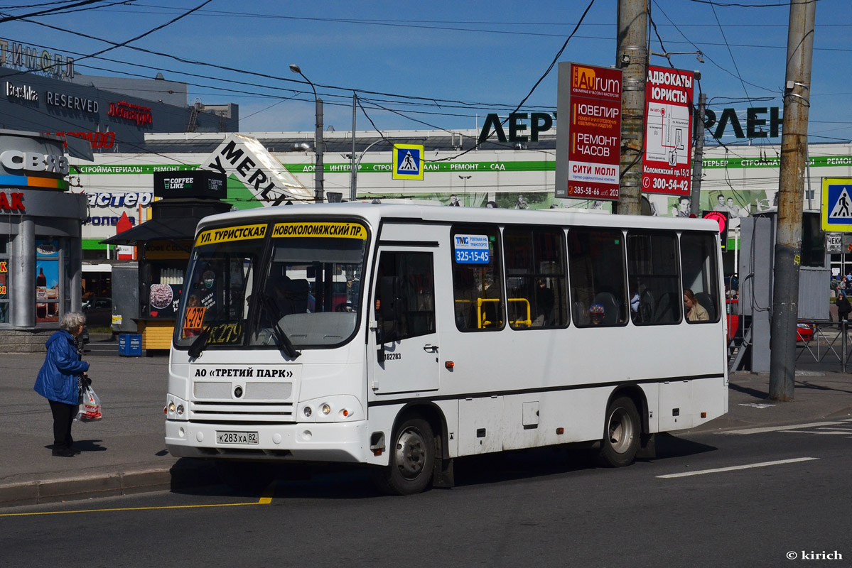
[[[55,136],[0,130],[0,351],[43,351],[79,309],[85,197]]]

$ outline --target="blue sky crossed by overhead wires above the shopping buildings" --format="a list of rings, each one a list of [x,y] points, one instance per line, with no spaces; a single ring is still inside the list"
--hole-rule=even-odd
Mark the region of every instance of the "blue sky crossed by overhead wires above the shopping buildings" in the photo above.
[[[849,142],[852,9],[849,0],[815,1],[809,141]],[[291,72],[294,63],[324,100],[326,128],[352,129],[355,90],[359,131],[458,130],[479,129],[487,114],[505,116],[525,98],[522,112],[554,112],[551,64],[613,66],[616,55],[617,0],[83,2],[0,2],[0,17],[14,17],[3,21],[0,38],[74,57],[82,74],[162,72],[189,83],[188,103],[239,104],[244,132],[314,130],[314,91]],[[651,52],[700,71],[709,109],[721,115],[733,107],[740,118],[750,106],[783,109],[785,0],[649,6]],[[43,10],[56,12],[34,14]],[[695,53],[673,53],[696,51],[703,63]],[[651,65],[669,63],[652,55]],[[730,129],[722,141],[734,141]],[[780,142],[751,141],[775,152]]]

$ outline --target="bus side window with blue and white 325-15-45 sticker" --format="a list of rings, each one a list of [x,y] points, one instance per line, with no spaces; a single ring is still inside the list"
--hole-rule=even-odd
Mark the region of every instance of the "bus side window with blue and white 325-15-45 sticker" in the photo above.
[[[499,229],[452,228],[452,296],[456,327],[461,331],[504,328],[503,277]]]

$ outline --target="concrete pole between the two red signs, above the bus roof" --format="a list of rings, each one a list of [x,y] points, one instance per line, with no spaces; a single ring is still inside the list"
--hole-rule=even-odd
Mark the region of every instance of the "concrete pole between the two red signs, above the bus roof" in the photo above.
[[[615,66],[622,72],[618,213],[642,215],[642,117],[648,78],[648,0],[619,0]]]

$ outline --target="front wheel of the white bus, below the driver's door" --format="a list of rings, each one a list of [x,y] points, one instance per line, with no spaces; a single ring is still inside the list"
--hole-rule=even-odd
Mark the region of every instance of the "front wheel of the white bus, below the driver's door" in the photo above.
[[[409,418],[394,432],[388,467],[376,473],[379,488],[392,495],[425,490],[435,468],[435,436],[429,422]]]

